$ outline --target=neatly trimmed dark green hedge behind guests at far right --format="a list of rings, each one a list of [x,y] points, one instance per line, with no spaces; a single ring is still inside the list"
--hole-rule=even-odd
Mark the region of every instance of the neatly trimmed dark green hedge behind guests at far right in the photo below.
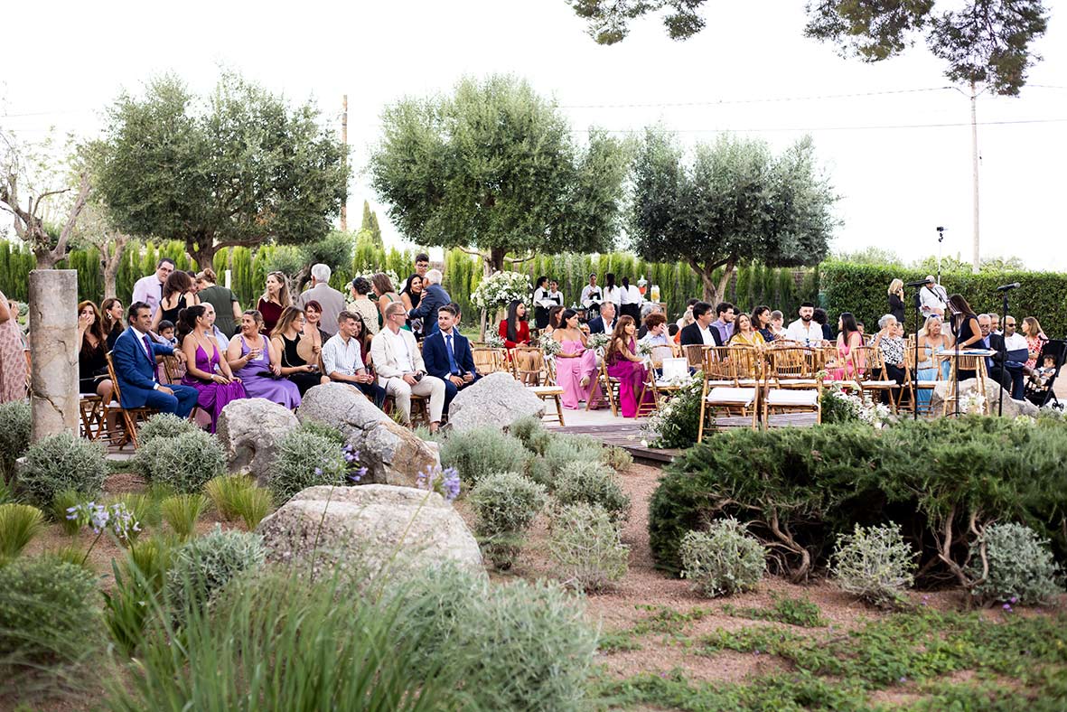
[[[851,312],[875,331],[878,319],[889,310],[889,283],[901,279],[917,282],[928,272],[881,265],[856,265],[828,260],[819,266],[819,297],[823,306],[833,316]],[[941,284],[949,294],[959,292],[975,313],[1000,313],[1002,297],[997,287],[1020,282],[1022,287],[1010,292],[1010,313],[1021,326],[1022,318],[1037,317],[1045,333],[1052,338],[1067,334],[1067,274],[1056,272],[942,272]],[[905,290],[905,301],[911,304],[913,291]],[[907,330],[913,331],[915,311],[907,312]]]

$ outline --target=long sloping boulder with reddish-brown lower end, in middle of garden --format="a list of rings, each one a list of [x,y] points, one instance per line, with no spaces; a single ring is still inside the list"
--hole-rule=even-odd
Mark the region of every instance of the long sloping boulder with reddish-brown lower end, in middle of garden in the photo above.
[[[304,394],[301,421],[324,423],[360,450],[365,482],[415,487],[418,473],[441,464],[436,443],[397,425],[359,391],[341,383],[316,385]]]

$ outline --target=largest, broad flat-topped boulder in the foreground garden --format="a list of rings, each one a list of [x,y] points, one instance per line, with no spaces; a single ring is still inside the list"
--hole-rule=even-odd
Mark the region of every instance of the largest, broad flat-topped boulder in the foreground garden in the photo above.
[[[436,492],[391,485],[309,487],[264,519],[267,560],[312,560],[313,575],[335,569],[373,576],[446,560],[484,573],[463,518]]]

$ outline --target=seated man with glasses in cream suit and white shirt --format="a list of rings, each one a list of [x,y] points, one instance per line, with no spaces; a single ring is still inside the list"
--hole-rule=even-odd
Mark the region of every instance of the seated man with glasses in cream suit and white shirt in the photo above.
[[[407,320],[402,303],[385,307],[385,323],[370,342],[370,359],[378,384],[394,397],[404,423],[411,424],[412,394],[430,398],[430,432],[436,432],[445,407],[445,382],[426,373],[415,335],[400,328]]]

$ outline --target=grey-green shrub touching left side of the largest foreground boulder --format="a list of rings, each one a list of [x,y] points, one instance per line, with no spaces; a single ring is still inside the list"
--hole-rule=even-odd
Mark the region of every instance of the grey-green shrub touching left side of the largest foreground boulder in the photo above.
[[[262,537],[245,532],[214,531],[179,547],[168,571],[166,590],[179,616],[200,607],[241,573],[264,563]]]

